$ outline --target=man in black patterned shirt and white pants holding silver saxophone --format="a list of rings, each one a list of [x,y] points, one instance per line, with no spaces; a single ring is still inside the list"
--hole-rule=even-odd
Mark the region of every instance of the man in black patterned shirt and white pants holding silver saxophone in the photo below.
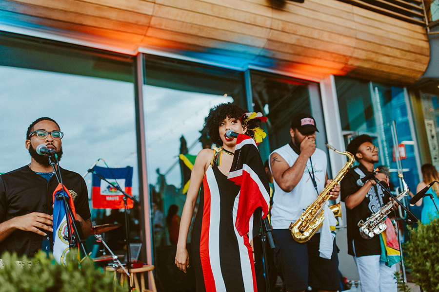
[[[379,236],[371,239],[361,237],[358,227],[360,220],[366,220],[389,201],[381,187],[374,180],[365,183],[361,179],[374,171],[374,164],[378,163],[378,147],[372,144],[368,135],[354,138],[346,148],[354,154],[359,162],[351,168],[341,181],[341,201],[346,205],[348,254],[354,256],[357,264],[362,292],[397,292],[397,283],[394,279],[395,266],[388,267],[380,261],[381,243]],[[375,176],[380,180],[383,173]]]

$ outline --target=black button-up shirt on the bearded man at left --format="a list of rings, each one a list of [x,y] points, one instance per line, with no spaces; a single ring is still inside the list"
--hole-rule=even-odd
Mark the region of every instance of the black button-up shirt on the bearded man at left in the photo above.
[[[82,219],[91,217],[84,179],[75,172],[60,168],[62,183],[74,197],[75,211]],[[0,222],[33,212],[53,214],[52,195],[58,185],[56,176],[49,182],[28,165],[0,176]],[[44,231],[45,232],[45,231]],[[48,233],[53,244],[53,235]],[[5,251],[19,256],[34,256],[41,249],[44,237],[31,231],[15,230],[0,242],[0,256]]]

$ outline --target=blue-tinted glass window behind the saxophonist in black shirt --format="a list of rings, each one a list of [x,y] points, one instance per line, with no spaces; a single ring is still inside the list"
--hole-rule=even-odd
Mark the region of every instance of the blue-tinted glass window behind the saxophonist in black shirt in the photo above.
[[[404,180],[410,189],[419,183],[415,141],[410,127],[403,88],[335,77],[340,119],[346,146],[355,136],[367,134],[379,147],[379,163],[390,170],[390,180],[398,182],[393,121],[398,135]]]

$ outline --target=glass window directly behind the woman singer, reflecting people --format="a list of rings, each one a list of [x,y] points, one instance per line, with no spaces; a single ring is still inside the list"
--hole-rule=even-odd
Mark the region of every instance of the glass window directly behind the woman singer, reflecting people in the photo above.
[[[191,266],[188,274],[173,274],[175,269],[169,269],[169,264],[174,264],[178,224],[186,200],[184,172],[203,147],[211,147],[203,131],[209,110],[227,102],[246,108],[243,73],[150,55],[145,56],[144,66],[146,159],[151,209],[155,210],[152,220],[158,289],[186,291],[195,288]]]

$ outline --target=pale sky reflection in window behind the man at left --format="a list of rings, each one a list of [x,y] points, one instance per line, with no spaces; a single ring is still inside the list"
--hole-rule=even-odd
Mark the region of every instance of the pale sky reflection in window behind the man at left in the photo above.
[[[61,167],[82,175],[99,158],[110,167],[133,166],[138,195],[132,83],[0,66],[0,173],[29,164],[26,130],[42,116],[56,120],[64,132]]]

